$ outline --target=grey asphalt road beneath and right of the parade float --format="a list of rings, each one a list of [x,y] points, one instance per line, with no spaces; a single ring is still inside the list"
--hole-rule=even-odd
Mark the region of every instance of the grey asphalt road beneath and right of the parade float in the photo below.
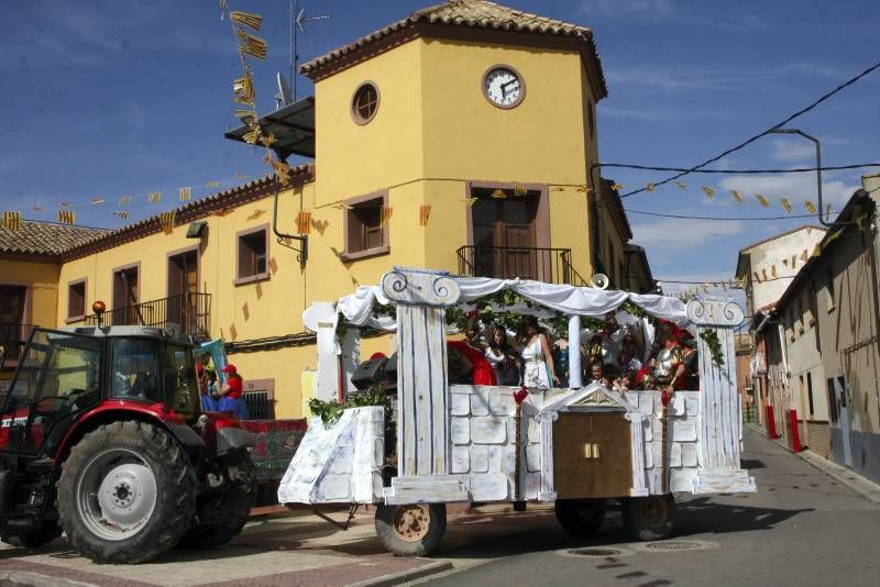
[[[453,521],[435,557],[457,571],[422,583],[880,585],[880,507],[750,429],[744,461],[758,492],[682,496],[674,535],[658,543],[670,550],[630,542],[617,513],[588,540],[569,538],[546,513],[526,514],[502,535],[479,519]]]

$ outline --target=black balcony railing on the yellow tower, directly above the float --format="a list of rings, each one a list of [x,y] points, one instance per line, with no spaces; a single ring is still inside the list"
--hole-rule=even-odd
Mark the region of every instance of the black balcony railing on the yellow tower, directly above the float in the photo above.
[[[458,255],[459,275],[586,286],[571,263],[571,248],[465,245]]]

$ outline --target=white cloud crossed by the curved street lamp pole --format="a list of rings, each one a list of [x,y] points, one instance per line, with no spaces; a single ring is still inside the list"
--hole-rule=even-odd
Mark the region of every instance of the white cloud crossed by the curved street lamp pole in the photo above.
[[[752,202],[756,193],[762,193],[770,200],[771,207],[781,211],[779,198],[789,198],[792,206],[800,208],[800,213],[806,213],[803,202],[816,202],[816,176],[813,173],[778,174],[778,175],[732,175],[722,179],[718,185],[722,189],[736,189],[741,192],[747,201]],[[831,203],[835,208],[842,207],[849,200],[859,186],[848,185],[839,179],[822,182],[823,203]]]

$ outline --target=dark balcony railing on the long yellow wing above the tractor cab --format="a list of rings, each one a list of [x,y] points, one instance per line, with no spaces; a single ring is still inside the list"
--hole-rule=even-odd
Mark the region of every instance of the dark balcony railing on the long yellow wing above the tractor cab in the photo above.
[[[96,314],[87,315],[80,323],[95,326],[98,324],[98,317]],[[168,324],[177,324],[184,334],[189,334],[197,340],[208,340],[211,324],[211,295],[183,294],[134,306],[113,308],[105,312],[101,323],[105,326],[130,325],[161,329]]]

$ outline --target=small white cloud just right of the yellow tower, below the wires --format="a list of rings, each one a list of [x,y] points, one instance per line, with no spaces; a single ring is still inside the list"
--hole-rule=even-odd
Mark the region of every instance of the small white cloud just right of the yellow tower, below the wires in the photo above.
[[[746,232],[738,220],[679,220],[669,219],[632,225],[632,242],[660,257],[671,251],[685,251],[704,246],[712,240]]]

